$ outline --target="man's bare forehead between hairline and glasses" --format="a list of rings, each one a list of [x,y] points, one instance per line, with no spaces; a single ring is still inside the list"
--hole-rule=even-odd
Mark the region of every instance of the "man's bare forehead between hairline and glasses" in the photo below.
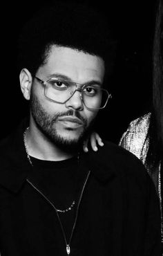
[[[104,79],[104,60],[96,55],[90,55],[68,47],[52,46],[46,64],[39,68],[39,73],[48,77],[61,73],[76,82]]]

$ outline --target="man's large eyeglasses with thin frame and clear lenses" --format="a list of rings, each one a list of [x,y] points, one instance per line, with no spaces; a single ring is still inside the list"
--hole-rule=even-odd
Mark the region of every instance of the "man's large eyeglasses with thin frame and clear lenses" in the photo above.
[[[59,104],[64,104],[70,100],[76,91],[80,92],[81,101],[88,109],[104,109],[108,99],[112,98],[112,95],[106,89],[99,88],[98,84],[79,84],[61,78],[50,78],[46,81],[36,76],[35,78],[44,84],[45,97]],[[77,84],[82,87],[77,88]]]

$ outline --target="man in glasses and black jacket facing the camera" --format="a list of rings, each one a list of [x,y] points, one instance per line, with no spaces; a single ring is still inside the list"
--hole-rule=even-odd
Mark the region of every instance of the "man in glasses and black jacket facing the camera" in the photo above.
[[[140,161],[81,146],[111,95],[113,39],[104,18],[57,3],[19,40],[30,117],[1,142],[1,255],[160,255],[160,209]]]

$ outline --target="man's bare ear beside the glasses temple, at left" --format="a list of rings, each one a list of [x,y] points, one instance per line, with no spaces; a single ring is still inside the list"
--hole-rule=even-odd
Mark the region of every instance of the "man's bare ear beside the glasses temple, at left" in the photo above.
[[[32,87],[32,75],[27,68],[23,68],[19,75],[21,92],[26,100],[30,100],[30,91]]]

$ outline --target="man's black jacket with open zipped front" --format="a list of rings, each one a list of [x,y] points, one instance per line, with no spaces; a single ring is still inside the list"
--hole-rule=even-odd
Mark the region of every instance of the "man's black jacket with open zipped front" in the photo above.
[[[54,205],[30,181],[24,129],[22,124],[0,144],[1,256],[68,255]],[[81,154],[86,168],[70,256],[160,256],[160,207],[153,182],[133,154],[104,144],[98,152]]]

